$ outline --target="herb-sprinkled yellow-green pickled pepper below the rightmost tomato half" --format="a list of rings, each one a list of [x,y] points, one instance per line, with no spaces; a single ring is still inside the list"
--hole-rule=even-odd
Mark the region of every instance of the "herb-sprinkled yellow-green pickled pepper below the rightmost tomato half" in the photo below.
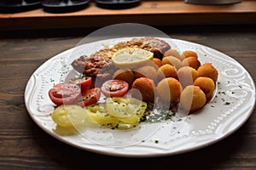
[[[97,123],[104,127],[117,129],[137,127],[146,108],[147,103],[125,97],[109,98],[106,104],[85,107],[90,117]]]

